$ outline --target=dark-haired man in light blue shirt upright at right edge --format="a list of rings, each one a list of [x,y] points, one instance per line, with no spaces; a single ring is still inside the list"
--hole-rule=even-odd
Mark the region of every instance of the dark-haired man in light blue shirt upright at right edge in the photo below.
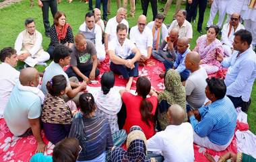
[[[234,107],[241,107],[247,112],[251,104],[251,91],[256,78],[256,54],[251,48],[252,36],[247,30],[234,33],[234,50],[229,58],[218,56],[223,67],[228,68],[225,83],[226,95],[231,99]]]

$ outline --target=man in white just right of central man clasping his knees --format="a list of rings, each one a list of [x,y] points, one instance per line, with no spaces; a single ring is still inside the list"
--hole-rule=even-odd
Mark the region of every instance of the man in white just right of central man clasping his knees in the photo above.
[[[139,63],[144,64],[152,53],[153,35],[146,26],[147,18],[145,15],[140,15],[137,21],[137,26],[133,26],[130,31],[130,40],[135,44],[141,53]]]

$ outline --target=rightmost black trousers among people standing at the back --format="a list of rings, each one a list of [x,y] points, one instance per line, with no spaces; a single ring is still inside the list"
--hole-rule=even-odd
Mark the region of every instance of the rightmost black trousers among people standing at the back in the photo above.
[[[199,6],[199,18],[197,22],[197,30],[202,30],[203,25],[203,15],[207,5],[207,0],[193,0],[191,4],[187,3],[187,21],[191,22],[193,15],[197,10],[197,6]]]

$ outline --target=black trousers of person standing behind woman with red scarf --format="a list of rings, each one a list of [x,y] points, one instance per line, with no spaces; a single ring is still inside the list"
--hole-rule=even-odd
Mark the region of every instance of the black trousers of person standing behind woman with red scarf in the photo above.
[[[51,13],[53,17],[55,13],[57,13],[57,0],[49,0],[49,1],[42,1],[42,20],[44,22],[44,30],[46,33],[49,33],[50,30],[50,23],[49,23],[49,7],[51,9]]]

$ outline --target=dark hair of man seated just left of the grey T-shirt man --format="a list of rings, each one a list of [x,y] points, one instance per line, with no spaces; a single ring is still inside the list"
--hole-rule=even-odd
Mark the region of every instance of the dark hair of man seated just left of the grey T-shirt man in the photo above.
[[[67,56],[70,56],[72,50],[63,44],[55,46],[53,50],[53,60],[55,63],[59,63],[60,59],[64,59]]]

